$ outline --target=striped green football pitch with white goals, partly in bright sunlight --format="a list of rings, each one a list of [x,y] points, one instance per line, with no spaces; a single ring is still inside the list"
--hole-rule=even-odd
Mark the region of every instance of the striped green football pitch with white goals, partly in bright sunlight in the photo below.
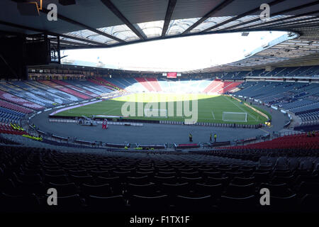
[[[125,108],[123,105],[126,105]],[[141,108],[142,111],[139,111]],[[62,111],[55,116],[123,116],[125,115],[122,113],[123,109],[130,112],[128,118],[154,121],[184,121],[192,118],[194,114],[197,114],[197,122],[205,123],[257,124],[267,121],[267,118],[230,96],[208,94],[130,94]],[[148,116],[151,111],[158,114]],[[259,111],[269,116],[266,111],[262,109]],[[226,119],[225,113],[223,118],[223,112],[239,114],[230,114]],[[247,117],[245,121],[242,116]]]

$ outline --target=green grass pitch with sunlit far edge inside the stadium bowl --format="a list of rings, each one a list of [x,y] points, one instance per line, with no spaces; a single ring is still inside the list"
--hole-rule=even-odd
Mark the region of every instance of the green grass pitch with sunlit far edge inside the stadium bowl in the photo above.
[[[198,100],[198,121],[197,122],[208,122],[208,123],[245,123],[245,124],[257,124],[264,123],[267,118],[257,114],[252,109],[248,108],[244,104],[231,99],[229,96],[222,95],[208,95],[208,94],[150,94],[150,93],[139,93],[130,94],[127,96],[121,96],[115,99],[108,99],[101,101],[96,104],[90,104],[87,106],[81,106],[67,111],[62,111],[55,116],[92,116],[92,115],[106,115],[106,116],[122,116],[121,108],[125,102],[130,101],[135,104],[135,116],[130,116],[133,119],[147,119],[147,120],[159,120],[159,121],[184,121],[184,116],[177,116],[177,101],[189,100],[189,109],[193,105],[193,100]],[[163,109],[159,102],[164,103],[166,109],[172,108],[174,104],[174,116],[168,117],[147,117],[138,116],[138,102],[143,103],[143,106],[148,103],[157,104],[158,107],[153,106],[153,109]],[[184,106],[184,104],[183,104]],[[256,107],[256,106],[254,106]],[[147,108],[146,108],[147,109]],[[260,109],[259,109],[260,110]],[[261,110],[263,111],[263,110]],[[240,112],[247,113],[247,123],[237,121],[223,121],[223,112]],[[269,116],[269,114],[263,111]],[[143,113],[145,113],[143,111]],[[184,113],[184,107],[183,107]]]

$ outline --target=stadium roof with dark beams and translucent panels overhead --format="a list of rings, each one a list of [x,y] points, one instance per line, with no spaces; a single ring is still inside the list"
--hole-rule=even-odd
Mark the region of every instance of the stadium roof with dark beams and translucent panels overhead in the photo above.
[[[43,0],[39,16],[22,16],[17,2],[21,0],[0,1],[0,31],[60,35],[64,49],[108,48],[208,33],[293,31],[300,36],[244,60],[191,72],[319,60],[319,1],[314,0],[76,0],[67,6]],[[57,4],[57,21],[47,20],[51,3]],[[265,3],[270,6],[269,21],[259,17]]]

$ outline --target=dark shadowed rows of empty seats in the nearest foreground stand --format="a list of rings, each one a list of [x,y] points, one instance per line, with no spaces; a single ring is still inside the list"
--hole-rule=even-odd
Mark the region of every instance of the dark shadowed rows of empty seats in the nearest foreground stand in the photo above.
[[[307,211],[318,201],[318,153],[230,148],[194,153],[157,153],[144,159],[138,153],[4,146],[1,210]],[[247,160],[255,155],[257,162]],[[212,159],[205,162],[203,157]],[[61,192],[60,206],[45,206],[47,187]],[[272,190],[271,210],[258,205],[262,187]],[[311,203],[310,198],[317,199]]]

